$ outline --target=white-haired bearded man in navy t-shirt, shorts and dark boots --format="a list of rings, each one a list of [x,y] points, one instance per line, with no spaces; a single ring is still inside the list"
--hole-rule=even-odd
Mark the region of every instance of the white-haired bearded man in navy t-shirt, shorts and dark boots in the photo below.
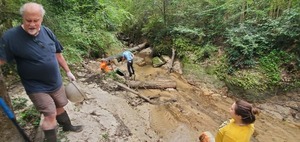
[[[23,23],[9,29],[0,40],[0,65],[15,61],[25,91],[36,109],[44,115],[42,129],[46,142],[56,142],[57,122],[64,131],[82,131],[73,126],[64,109],[68,103],[60,68],[76,80],[65,61],[63,47],[50,29],[42,26],[45,10],[29,2],[20,8]]]

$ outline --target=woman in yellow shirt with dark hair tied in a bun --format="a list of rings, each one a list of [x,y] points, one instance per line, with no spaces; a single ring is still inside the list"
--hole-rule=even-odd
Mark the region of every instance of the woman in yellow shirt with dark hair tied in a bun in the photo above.
[[[250,142],[258,113],[258,109],[244,100],[233,103],[230,108],[232,118],[220,126],[215,142]]]

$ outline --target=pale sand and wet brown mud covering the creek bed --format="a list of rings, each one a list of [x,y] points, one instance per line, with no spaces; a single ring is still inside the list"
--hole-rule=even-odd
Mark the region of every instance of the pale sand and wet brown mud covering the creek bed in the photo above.
[[[84,130],[64,133],[59,129],[62,142],[196,142],[201,132],[215,134],[219,125],[229,119],[229,107],[234,99],[226,97],[226,89],[213,90],[211,84],[190,85],[187,82],[194,78],[134,65],[136,80],[168,78],[177,83],[176,89],[136,89],[158,102],[150,104],[109,80],[102,81],[100,74],[89,72],[97,72],[98,62],[89,62],[88,67],[89,70],[75,74],[89,99],[76,104],[70,102],[66,107],[72,122],[84,125]],[[11,88],[10,94],[26,96],[20,87]],[[291,109],[299,108],[299,93],[292,96],[296,98],[274,98],[256,104],[262,113],[255,122],[252,142],[300,141],[299,110]]]

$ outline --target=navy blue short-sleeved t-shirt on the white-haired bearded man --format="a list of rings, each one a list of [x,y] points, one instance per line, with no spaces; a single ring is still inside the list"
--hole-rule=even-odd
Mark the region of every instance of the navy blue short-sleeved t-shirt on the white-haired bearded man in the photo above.
[[[27,94],[53,92],[62,85],[56,53],[63,50],[52,31],[41,26],[37,36],[21,26],[9,29],[0,40],[0,59],[16,61]]]

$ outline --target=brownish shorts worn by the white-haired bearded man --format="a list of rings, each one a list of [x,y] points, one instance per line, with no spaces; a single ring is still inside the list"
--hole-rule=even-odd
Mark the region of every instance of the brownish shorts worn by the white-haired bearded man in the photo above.
[[[36,109],[44,116],[56,114],[56,108],[62,108],[68,104],[63,85],[51,93],[33,93],[28,96]]]

